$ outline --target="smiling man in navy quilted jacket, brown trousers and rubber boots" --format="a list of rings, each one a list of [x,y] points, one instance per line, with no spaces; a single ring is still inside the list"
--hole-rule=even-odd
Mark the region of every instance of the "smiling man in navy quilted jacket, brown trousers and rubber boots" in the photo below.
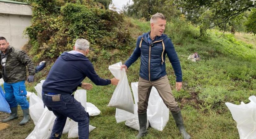
[[[137,138],[146,136],[147,130],[147,106],[152,86],[155,86],[165,105],[171,111],[173,118],[184,139],[190,139],[183,125],[180,108],[175,101],[169,80],[165,70],[165,55],[173,66],[176,75],[176,89],[182,87],[182,70],[173,43],[164,35],[166,25],[165,16],[161,13],[152,15],[150,19],[151,31],[139,36],[131,57],[121,66],[121,69],[129,68],[141,57],[140,78],[138,83],[138,117],[140,130]]]

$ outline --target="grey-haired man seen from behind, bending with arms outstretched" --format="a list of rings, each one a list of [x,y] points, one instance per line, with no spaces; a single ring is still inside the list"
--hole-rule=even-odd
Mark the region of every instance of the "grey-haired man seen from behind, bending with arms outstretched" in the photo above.
[[[87,90],[92,89],[92,84],[81,83],[84,78],[88,77],[100,86],[117,85],[119,82],[116,78],[110,80],[100,78],[86,57],[88,53],[89,42],[85,39],[77,39],[74,50],[61,54],[43,83],[43,103],[56,116],[50,139],[61,138],[67,117],[78,122],[79,139],[89,138],[89,114],[71,95],[78,86]]]

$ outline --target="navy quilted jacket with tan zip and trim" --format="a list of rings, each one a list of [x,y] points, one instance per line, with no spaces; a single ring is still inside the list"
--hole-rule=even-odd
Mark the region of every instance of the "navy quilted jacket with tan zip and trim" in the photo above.
[[[162,34],[153,40],[150,46],[147,40],[148,34],[149,32],[138,37],[136,48],[124,65],[129,68],[133,62],[141,57],[140,77],[149,81],[156,81],[166,75],[165,55],[167,54],[176,75],[176,82],[182,82],[180,61],[171,39]],[[139,47],[140,44],[141,47]]]

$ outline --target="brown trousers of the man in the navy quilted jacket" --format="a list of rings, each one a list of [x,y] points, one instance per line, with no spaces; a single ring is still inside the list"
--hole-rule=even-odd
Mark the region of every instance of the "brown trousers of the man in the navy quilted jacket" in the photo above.
[[[156,81],[148,81],[143,78],[139,78],[138,83],[138,114],[144,114],[147,112],[148,107],[148,99],[150,95],[150,91],[152,86],[155,86],[156,90],[158,91],[160,97],[163,99],[164,104],[168,107],[168,109],[172,113],[178,113],[180,108],[175,101],[172,89],[169,84],[169,80],[167,75],[164,77],[159,78]]]

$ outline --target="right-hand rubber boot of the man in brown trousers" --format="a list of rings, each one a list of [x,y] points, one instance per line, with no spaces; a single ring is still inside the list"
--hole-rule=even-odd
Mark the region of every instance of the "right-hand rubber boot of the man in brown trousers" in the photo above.
[[[172,113],[173,119],[175,120],[175,123],[177,127],[179,128],[179,131],[184,139],[191,139],[190,135],[186,132],[186,129],[184,128],[181,111],[178,113]]]

